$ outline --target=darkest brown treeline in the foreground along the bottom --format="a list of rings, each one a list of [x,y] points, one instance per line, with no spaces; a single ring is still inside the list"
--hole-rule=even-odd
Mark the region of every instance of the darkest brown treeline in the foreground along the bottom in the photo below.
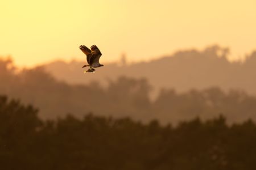
[[[177,126],[86,114],[41,120],[0,97],[1,169],[255,169],[256,125],[219,116]]]

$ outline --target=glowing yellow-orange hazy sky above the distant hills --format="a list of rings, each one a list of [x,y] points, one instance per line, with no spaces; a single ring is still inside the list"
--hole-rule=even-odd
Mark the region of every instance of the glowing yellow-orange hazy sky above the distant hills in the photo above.
[[[80,44],[96,44],[102,63],[212,44],[233,57],[256,49],[255,0],[1,0],[0,22],[0,55],[21,66],[84,59]]]

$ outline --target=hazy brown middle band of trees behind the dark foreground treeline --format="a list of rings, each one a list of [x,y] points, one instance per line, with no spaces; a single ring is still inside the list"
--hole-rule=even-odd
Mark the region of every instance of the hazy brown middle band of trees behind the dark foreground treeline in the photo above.
[[[86,78],[84,74],[82,78]],[[144,78],[120,76],[109,80],[107,87],[98,82],[71,85],[56,80],[43,67],[17,73],[10,59],[0,60],[0,80],[0,94],[35,105],[42,118],[67,113],[81,118],[89,112],[115,118],[129,116],[144,122],[157,119],[164,124],[196,116],[206,120],[220,113],[228,122],[256,118],[256,97],[238,90],[224,92],[218,87],[183,93],[165,88],[152,101],[152,86]]]

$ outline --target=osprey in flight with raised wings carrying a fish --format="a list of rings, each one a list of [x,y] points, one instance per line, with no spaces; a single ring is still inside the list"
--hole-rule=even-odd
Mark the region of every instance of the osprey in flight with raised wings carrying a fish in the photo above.
[[[95,72],[94,68],[104,66],[99,62],[101,57],[101,52],[96,45],[92,45],[90,49],[87,48],[85,45],[80,45],[79,48],[86,55],[86,60],[88,62],[88,65],[84,65],[82,66],[82,68],[87,66],[90,67],[90,69],[87,71],[84,71],[84,73],[86,72],[94,73]]]

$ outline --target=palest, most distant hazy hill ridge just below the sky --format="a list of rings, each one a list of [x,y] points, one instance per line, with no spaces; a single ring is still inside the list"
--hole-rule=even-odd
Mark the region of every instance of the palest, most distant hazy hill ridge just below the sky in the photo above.
[[[109,63],[97,69],[96,74],[84,77],[81,77],[81,67],[86,62],[85,58],[84,62],[55,61],[44,66],[55,78],[71,84],[88,84],[97,80],[106,85],[109,79],[116,80],[125,75],[146,78],[155,90],[175,88],[177,92],[185,92],[214,86],[224,91],[237,89],[256,95],[256,52],[247,56],[244,62],[230,62],[228,54],[229,49],[213,45],[201,51],[179,51],[149,62],[130,65]],[[81,57],[84,56],[81,54]]]

